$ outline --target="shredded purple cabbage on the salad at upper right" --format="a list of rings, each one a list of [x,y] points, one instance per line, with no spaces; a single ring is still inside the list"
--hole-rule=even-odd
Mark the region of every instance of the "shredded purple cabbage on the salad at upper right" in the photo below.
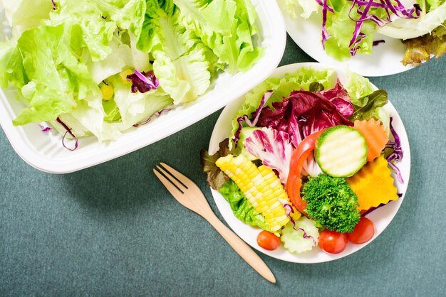
[[[316,0],[316,2],[322,6],[322,45],[325,48],[325,43],[330,38],[330,34],[327,32],[327,14],[333,13],[333,7],[328,6],[328,0]],[[390,13],[395,14],[399,18],[418,18],[420,17],[420,6],[414,4],[413,8],[406,9],[399,0],[349,0],[351,1],[351,7],[348,12],[348,16],[352,21],[356,22],[355,31],[350,41],[350,55],[356,55],[361,48],[359,43],[363,41],[367,36],[361,32],[361,27],[364,21],[373,21],[378,26],[382,27],[391,22]],[[386,17],[380,18],[373,13],[370,13],[370,9],[384,9]],[[359,14],[359,18],[353,18],[351,12],[356,9],[356,13]]]

